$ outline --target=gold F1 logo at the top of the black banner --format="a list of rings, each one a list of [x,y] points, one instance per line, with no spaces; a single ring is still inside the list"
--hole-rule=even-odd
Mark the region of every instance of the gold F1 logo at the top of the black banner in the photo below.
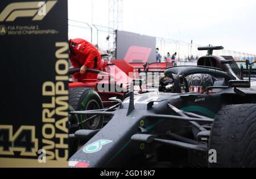
[[[57,1],[32,1],[11,3],[0,14],[0,22],[13,22],[16,18],[33,17],[43,20]]]

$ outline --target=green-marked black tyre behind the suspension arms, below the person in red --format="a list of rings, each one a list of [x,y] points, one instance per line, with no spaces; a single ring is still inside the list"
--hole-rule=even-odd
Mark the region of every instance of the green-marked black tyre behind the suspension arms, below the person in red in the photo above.
[[[69,105],[76,111],[102,109],[103,104],[98,93],[91,88],[71,88],[69,89]],[[94,115],[79,115],[79,121],[82,122],[86,118]],[[94,120],[86,121],[82,125],[82,129],[101,129],[104,122],[104,116],[98,116]]]

